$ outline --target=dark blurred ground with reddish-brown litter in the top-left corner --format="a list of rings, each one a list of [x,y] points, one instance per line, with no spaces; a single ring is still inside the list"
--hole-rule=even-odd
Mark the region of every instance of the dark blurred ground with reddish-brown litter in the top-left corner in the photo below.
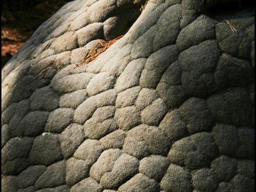
[[[2,0],[2,68],[38,26],[70,1],[73,0]]]

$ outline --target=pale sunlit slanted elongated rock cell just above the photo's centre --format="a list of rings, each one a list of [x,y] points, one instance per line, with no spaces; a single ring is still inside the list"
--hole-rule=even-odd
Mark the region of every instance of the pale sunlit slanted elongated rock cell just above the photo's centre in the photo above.
[[[139,85],[140,74],[144,68],[145,62],[145,58],[139,58],[131,61],[116,80],[115,90],[117,92],[121,92]]]

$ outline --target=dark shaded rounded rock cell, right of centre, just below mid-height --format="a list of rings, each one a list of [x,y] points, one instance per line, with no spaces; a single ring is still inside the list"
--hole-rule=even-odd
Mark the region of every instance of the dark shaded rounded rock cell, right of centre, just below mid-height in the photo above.
[[[214,119],[204,99],[188,99],[180,106],[180,114],[190,134],[209,131],[214,125]]]

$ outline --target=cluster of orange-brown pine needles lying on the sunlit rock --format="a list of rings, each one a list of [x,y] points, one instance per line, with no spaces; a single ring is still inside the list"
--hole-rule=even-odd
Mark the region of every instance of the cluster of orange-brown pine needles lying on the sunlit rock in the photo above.
[[[90,51],[87,52],[86,55],[82,58],[82,61],[76,64],[76,67],[80,67],[81,65],[87,64],[90,61],[95,60],[102,52],[105,52],[111,45],[113,45],[116,41],[122,38],[124,35],[121,35],[113,40],[110,41],[100,41],[96,43],[95,47]],[[76,68],[75,67],[75,68]]]

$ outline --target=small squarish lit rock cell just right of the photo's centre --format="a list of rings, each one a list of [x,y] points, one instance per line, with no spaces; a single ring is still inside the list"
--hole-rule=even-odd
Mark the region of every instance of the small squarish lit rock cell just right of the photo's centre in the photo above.
[[[157,97],[158,95],[156,90],[142,88],[135,102],[135,105],[139,110],[143,110],[148,105],[150,105],[154,100],[156,100]]]

